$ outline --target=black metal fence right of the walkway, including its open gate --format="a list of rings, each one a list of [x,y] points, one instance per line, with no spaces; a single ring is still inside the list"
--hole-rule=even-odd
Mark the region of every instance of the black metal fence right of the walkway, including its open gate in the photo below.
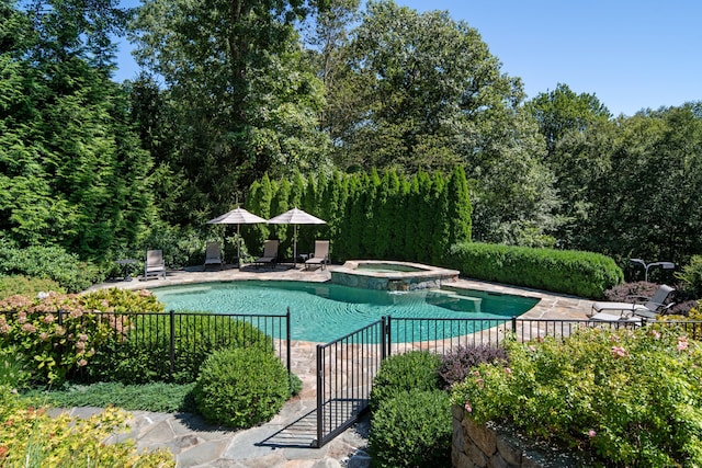
[[[668,321],[689,338],[702,338],[702,322]],[[317,440],[321,447],[358,422],[369,408],[373,378],[390,354],[430,351],[440,355],[457,346],[500,345],[569,336],[581,327],[633,328],[631,322],[550,319],[406,319],[386,317],[331,343],[317,346]],[[382,342],[382,345],[378,343]]]

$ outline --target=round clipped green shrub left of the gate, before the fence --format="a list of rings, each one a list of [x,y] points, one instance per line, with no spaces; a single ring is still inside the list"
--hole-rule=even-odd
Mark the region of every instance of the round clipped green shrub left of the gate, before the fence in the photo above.
[[[193,390],[207,421],[242,429],[269,421],[290,395],[287,369],[260,347],[215,351],[202,366]]]

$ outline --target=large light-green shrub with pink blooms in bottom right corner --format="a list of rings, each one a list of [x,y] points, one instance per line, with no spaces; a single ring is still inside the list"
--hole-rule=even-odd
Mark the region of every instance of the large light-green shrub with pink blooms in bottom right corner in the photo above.
[[[507,346],[509,367],[482,364],[452,390],[476,423],[508,423],[605,466],[702,465],[702,347],[676,328]]]

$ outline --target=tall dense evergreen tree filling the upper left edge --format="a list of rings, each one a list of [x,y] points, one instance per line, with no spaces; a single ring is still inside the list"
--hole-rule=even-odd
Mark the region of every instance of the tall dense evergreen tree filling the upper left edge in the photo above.
[[[126,19],[115,4],[2,3],[0,229],[20,246],[102,260],[138,242],[154,219],[151,160],[109,79],[109,37]]]

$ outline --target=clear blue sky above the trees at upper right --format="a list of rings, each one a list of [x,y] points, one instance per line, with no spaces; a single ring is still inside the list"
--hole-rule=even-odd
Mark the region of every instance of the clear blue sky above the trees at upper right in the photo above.
[[[396,0],[476,28],[529,98],[567,84],[614,115],[702,101],[699,0]],[[123,4],[138,4],[135,0]],[[126,39],[115,79],[136,75]]]

